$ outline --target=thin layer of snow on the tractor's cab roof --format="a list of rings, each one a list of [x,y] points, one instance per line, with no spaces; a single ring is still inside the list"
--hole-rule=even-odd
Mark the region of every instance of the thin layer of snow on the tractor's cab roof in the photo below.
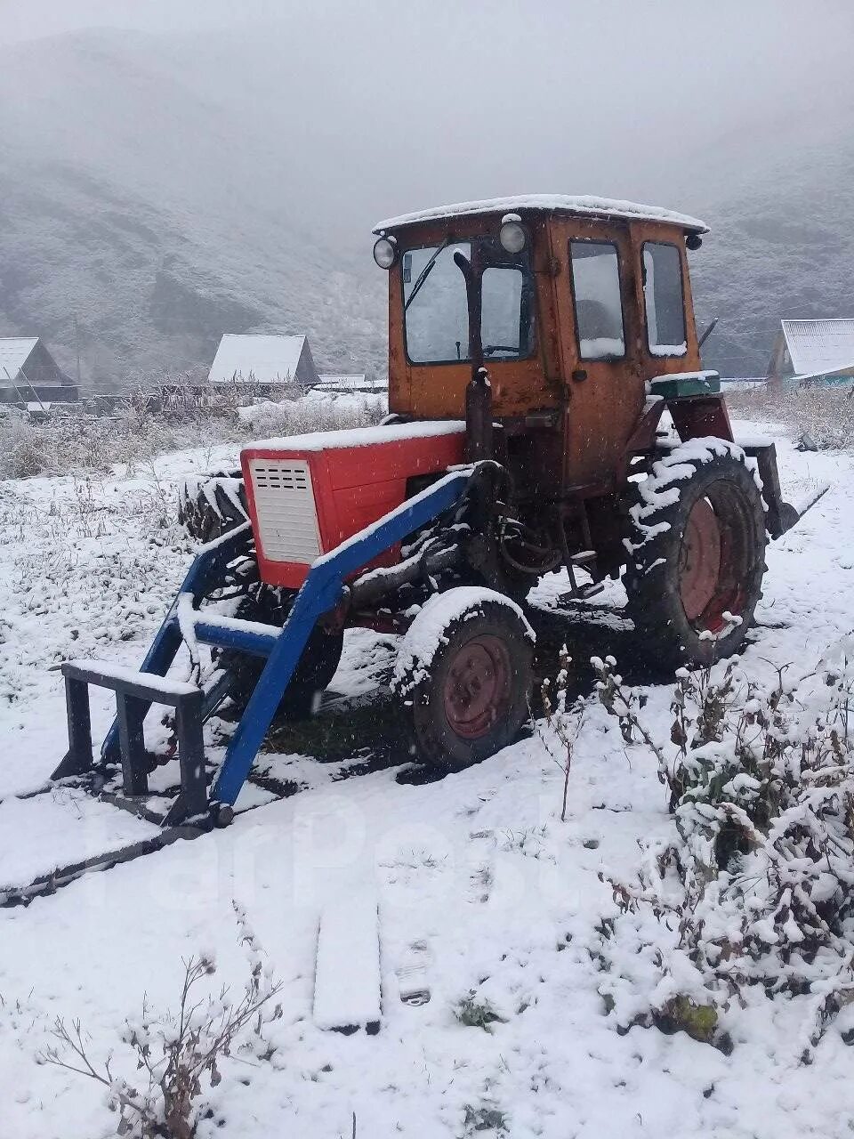
[[[403,226],[414,226],[421,221],[441,221],[444,218],[484,213],[512,213],[519,210],[541,210],[557,213],[584,214],[593,218],[630,218],[643,221],[666,221],[693,233],[707,233],[708,226],[698,218],[664,210],[660,206],[644,206],[638,202],[621,202],[617,198],[598,198],[590,195],[523,194],[510,198],[484,198],[482,202],[457,202],[450,206],[419,210],[399,218],[387,218],[373,227],[375,233]]]

